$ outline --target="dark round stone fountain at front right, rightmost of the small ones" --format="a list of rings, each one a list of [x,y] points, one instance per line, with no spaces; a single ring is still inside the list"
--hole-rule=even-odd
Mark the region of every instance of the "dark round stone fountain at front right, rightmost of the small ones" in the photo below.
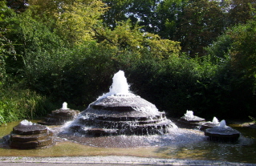
[[[205,136],[209,136],[209,140],[234,142],[238,140],[240,132],[226,126],[226,121],[221,120],[216,127],[206,129]]]

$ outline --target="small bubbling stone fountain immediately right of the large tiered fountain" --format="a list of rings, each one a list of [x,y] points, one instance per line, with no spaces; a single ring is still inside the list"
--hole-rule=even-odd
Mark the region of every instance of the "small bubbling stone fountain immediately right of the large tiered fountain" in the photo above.
[[[201,126],[201,123],[204,123],[205,119],[200,118],[196,115],[193,115],[193,111],[186,111],[185,115],[177,121],[179,127],[181,128],[197,128]]]

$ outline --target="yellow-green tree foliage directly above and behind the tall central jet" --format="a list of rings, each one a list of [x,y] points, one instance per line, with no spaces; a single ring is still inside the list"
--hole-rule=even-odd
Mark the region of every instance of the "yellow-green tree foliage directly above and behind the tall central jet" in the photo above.
[[[137,58],[150,51],[156,59],[169,59],[178,56],[180,44],[169,39],[161,39],[157,34],[141,32],[140,26],[133,27],[131,22],[119,22],[114,30],[101,26],[95,29],[100,44],[114,50],[137,52]]]

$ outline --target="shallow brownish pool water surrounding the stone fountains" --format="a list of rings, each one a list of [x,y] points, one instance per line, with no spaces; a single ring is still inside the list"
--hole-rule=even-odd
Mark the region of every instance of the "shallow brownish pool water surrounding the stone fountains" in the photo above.
[[[0,138],[10,134],[16,123],[0,127]],[[226,160],[256,164],[256,130],[236,127],[242,136],[238,143],[206,140],[204,133],[190,129],[171,129],[162,136],[75,136],[51,127],[57,144],[51,148],[19,150],[0,144],[0,156],[141,156],[193,160]],[[2,140],[1,140],[2,142]]]

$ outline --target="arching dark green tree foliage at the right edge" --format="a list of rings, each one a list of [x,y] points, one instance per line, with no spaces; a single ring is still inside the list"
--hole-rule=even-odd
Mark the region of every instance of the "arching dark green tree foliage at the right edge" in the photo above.
[[[244,25],[234,26],[217,38],[206,51],[213,57],[230,60],[231,70],[242,79],[256,77],[256,21],[250,20]]]

